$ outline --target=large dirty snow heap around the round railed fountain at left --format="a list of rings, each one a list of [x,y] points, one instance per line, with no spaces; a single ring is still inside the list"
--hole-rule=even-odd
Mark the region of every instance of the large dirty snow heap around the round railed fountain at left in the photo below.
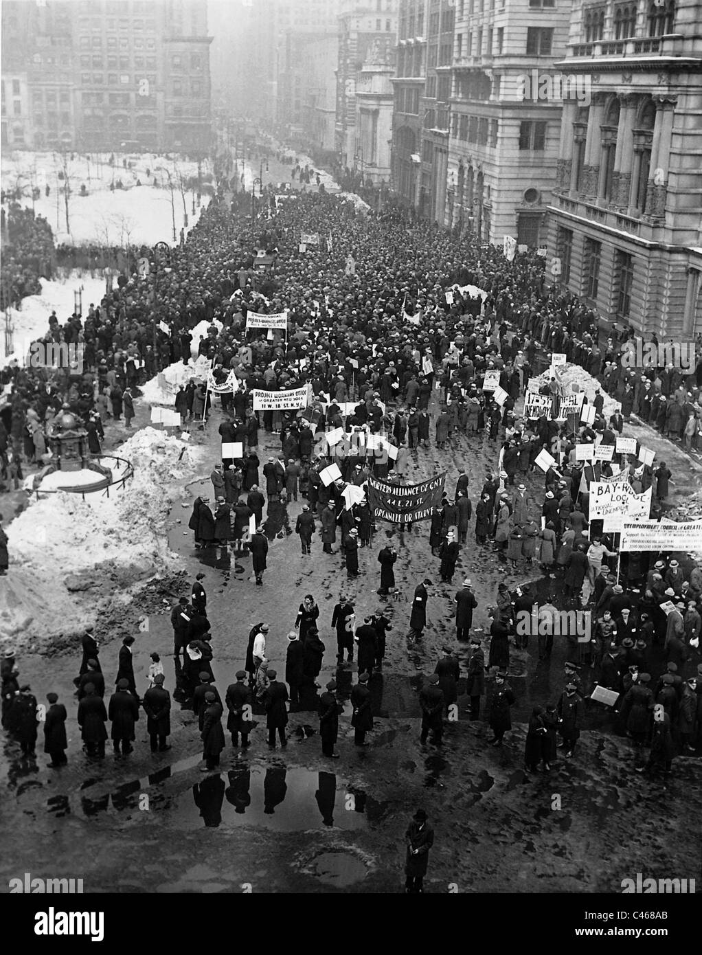
[[[59,628],[84,626],[95,613],[67,593],[150,577],[169,562],[165,518],[178,482],[197,467],[200,450],[179,438],[144,428],[118,449],[134,465],[134,477],[109,499],[85,500],[57,492],[41,498],[8,527],[11,565],[0,578],[0,638],[27,639]]]

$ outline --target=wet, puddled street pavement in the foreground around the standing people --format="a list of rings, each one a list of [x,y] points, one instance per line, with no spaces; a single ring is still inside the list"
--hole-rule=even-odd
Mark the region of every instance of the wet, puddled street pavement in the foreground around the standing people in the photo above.
[[[490,547],[475,543],[471,530],[454,583],[440,584],[428,522],[405,534],[380,523],[372,546],[359,551],[361,577],[347,581],[340,555],[324,554],[318,534],[311,556],[301,557],[299,540],[291,533],[302,506],[298,500],[287,507],[271,503],[265,512],[268,569],[264,586],[256,587],[250,557],[222,548],[196,551],[187,530],[193,499],[201,491],[211,495],[207,476],[219,459],[219,420],[215,411],[206,433],[193,435],[209,456],[202,475],[193,475],[183,489],[168,529],[170,546],[186,571],[181,592],[189,593],[196,573],[205,574],[217,686],[223,693],[243,666],[249,628],[260,621],[270,625],[266,655],[282,673],[287,631],[297,606],[311,593],[321,609],[319,630],[327,647],[318,682],[324,686],[334,676],[339,695],[347,699],[356,670],[336,668],[332,607],[342,592],[355,605],[359,621],[388,606],[393,629],[383,673],[372,677],[371,745],[364,751],[353,746],[347,704],[340,717],[341,758],[327,759],[321,753],[316,713],[293,707],[285,750],[268,750],[265,716],[258,716],[249,750],[233,751],[227,745],[221,772],[203,775],[194,716],[174,705],[169,753],[149,753],[142,714],[134,753],[115,757],[108,744],[108,755],[94,762],[80,750],[75,723],[75,658],[25,659],[23,678],[40,702],[53,689],[68,706],[69,765],[59,772],[48,770],[43,753],[35,763],[23,762],[16,746],[6,741],[0,765],[5,834],[0,891],[11,876],[59,874],[59,867],[62,876],[82,877],[86,891],[402,891],[404,832],[418,806],[427,810],[436,830],[427,891],[618,892],[622,879],[641,871],[652,877],[694,877],[698,859],[691,859],[684,843],[696,815],[692,802],[699,804],[699,759],[676,759],[665,783],[634,774],[641,757],[612,715],[588,702],[586,729],[575,755],[561,758],[549,775],[524,774],[524,723],[532,706],[556,702],[563,690],[564,640],[556,638],[546,661],[539,661],[533,639],[525,651],[510,647],[509,683],[517,703],[514,729],[500,750],[488,745],[491,732],[482,719],[471,722],[463,712],[464,696],[443,747],[419,743],[417,689],[421,674],[434,670],[441,647],[457,647],[453,599],[463,578],[470,577],[474,585],[479,603],[474,622],[480,633],[489,629],[487,611],[501,581],[510,587],[537,581],[540,600],[550,594],[557,602],[558,582],[542,578],[537,564],[501,564]],[[640,432],[637,428],[637,436]],[[262,461],[268,453],[278,453],[277,435],[262,431],[261,440]],[[686,499],[699,491],[700,469],[691,471],[688,459],[668,447],[673,498]],[[453,495],[457,468],[463,466],[475,507],[497,453],[497,441],[458,435],[446,451],[414,453],[407,480],[446,471],[446,488]],[[541,472],[527,476],[525,483],[540,504]],[[388,536],[399,553],[398,594],[391,601],[376,594],[377,553]],[[415,585],[425,577],[433,582],[428,586],[428,624],[423,637],[413,640],[408,635],[410,604]],[[172,602],[179,595],[174,592]],[[167,656],[172,651],[169,610],[164,603],[162,614],[149,617],[148,631],[138,633],[134,657],[141,692],[154,649],[164,660],[166,688],[174,688],[172,657]],[[117,648],[116,642],[101,649],[108,686],[117,672]],[[457,655],[465,672],[467,647],[457,647]],[[661,661],[654,664],[655,677]],[[587,689],[587,669],[583,676]]]

